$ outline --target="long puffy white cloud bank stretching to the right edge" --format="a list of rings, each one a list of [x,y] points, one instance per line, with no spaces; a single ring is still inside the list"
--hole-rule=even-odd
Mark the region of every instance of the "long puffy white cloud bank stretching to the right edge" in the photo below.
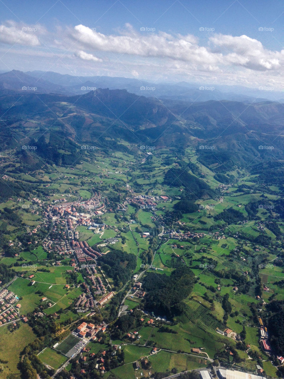
[[[84,25],[76,25],[71,35],[81,46],[89,49],[147,58],[170,58],[198,65],[201,70],[215,71],[222,66],[277,70],[284,63],[284,51],[267,50],[261,42],[245,35],[212,36],[209,38],[212,48],[199,45],[198,39],[190,34],[137,33],[128,24],[124,34],[120,31],[120,35],[105,35]]]

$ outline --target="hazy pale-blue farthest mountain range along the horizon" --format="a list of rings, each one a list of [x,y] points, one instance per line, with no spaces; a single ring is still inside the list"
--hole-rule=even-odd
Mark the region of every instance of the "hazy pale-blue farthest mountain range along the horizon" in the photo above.
[[[197,83],[151,83],[135,78],[108,76],[72,76],[56,72],[12,70],[0,74],[0,91],[22,91],[23,87],[36,88],[37,93],[84,94],[93,88],[126,89],[128,92],[156,97],[162,100],[200,102],[230,100],[245,103],[265,100],[283,101],[282,92],[259,91],[245,87],[220,86]],[[266,87],[263,87],[264,89]]]

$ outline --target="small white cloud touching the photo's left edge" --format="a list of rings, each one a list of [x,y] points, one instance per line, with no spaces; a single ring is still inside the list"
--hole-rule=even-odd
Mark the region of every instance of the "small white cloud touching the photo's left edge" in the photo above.
[[[39,39],[36,36],[38,26],[18,25],[8,22],[7,25],[0,25],[0,42],[4,44],[38,46]]]

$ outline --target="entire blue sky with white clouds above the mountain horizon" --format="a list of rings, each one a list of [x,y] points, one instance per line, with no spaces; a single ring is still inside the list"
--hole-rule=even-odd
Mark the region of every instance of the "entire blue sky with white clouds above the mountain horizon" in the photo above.
[[[282,91],[279,0],[0,0],[0,70]]]

